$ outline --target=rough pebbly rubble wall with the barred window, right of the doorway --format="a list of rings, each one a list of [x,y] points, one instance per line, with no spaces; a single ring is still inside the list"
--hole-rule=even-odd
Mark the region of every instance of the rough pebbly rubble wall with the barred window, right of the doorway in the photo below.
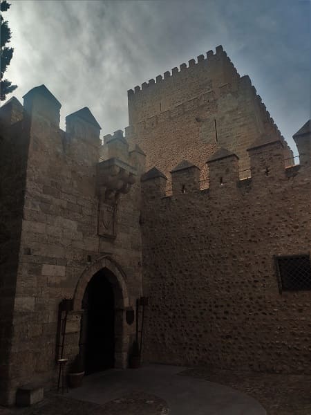
[[[310,252],[310,145],[288,169],[281,142],[249,155],[243,181],[236,156],[211,160],[208,190],[187,163],[172,196],[143,176],[145,360],[310,373],[311,293],[280,293],[274,268],[274,255]]]

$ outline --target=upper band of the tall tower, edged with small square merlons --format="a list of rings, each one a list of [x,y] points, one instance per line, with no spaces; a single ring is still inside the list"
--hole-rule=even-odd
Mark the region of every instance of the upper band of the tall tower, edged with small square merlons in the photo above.
[[[129,124],[137,124],[157,113],[171,110],[189,100],[189,97],[198,97],[211,89],[218,94],[224,85],[226,89],[236,89],[239,77],[223,47],[217,46],[216,53],[211,50],[206,57],[199,55],[197,60],[190,59],[188,66],[181,64],[179,69],[175,67],[158,75],[155,80],[129,89]],[[188,88],[184,91],[182,86],[185,83]]]

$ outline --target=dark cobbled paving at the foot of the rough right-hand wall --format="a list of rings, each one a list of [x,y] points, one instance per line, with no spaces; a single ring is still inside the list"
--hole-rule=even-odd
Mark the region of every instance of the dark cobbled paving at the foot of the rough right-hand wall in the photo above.
[[[267,415],[311,415],[311,375],[261,374],[207,367],[187,369],[181,375],[243,391],[256,398]]]

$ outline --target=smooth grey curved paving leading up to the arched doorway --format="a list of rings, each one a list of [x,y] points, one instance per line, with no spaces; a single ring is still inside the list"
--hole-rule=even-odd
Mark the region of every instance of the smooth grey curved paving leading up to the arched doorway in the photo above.
[[[68,395],[104,405],[140,391],[164,400],[169,415],[266,415],[265,409],[251,396],[214,382],[179,376],[184,369],[187,368],[171,365],[112,369],[88,376],[82,388],[72,389]],[[133,412],[138,413],[145,415],[143,411]],[[123,414],[131,415],[132,412]]]

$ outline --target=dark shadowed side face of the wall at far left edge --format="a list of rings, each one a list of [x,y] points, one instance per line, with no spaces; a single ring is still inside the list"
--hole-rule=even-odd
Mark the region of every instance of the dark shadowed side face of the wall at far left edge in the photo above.
[[[19,135],[21,104],[12,98],[0,116],[0,401],[8,395],[9,353],[26,187],[28,140]],[[12,128],[8,126],[12,125]]]

